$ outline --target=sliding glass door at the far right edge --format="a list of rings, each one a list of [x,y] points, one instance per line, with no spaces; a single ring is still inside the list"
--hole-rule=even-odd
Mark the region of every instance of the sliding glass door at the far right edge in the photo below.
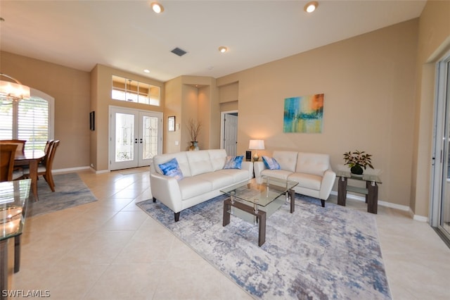
[[[431,225],[450,242],[450,53],[437,64]]]

